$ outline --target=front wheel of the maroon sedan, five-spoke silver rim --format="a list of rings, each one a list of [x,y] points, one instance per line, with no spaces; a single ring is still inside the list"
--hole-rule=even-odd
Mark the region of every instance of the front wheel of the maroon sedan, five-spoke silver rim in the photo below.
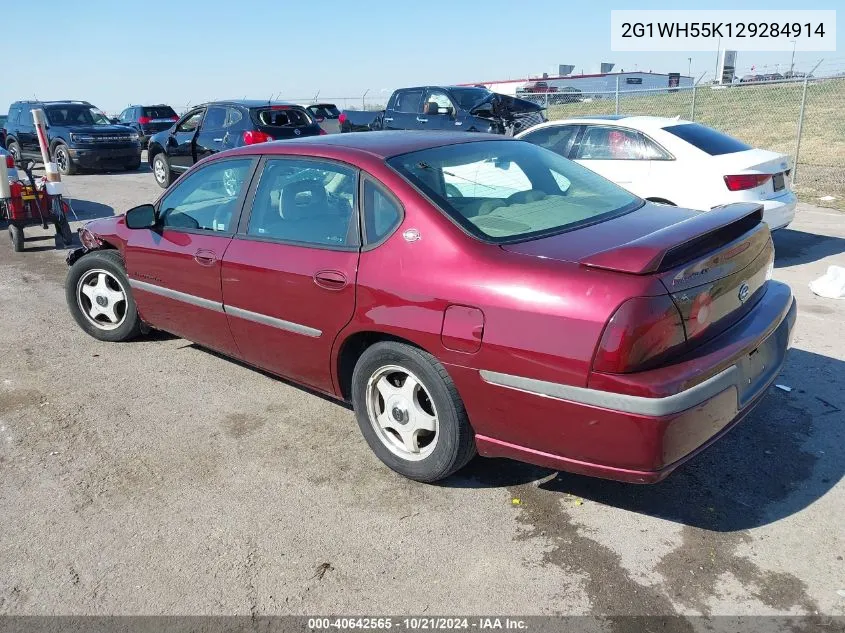
[[[65,299],[79,327],[95,339],[117,343],[141,332],[129,278],[115,250],[94,251],[77,260],[65,280]]]

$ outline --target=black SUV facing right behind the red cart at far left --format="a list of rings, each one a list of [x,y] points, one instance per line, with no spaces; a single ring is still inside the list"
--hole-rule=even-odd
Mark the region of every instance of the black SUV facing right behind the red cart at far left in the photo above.
[[[141,143],[138,133],[113,125],[87,101],[16,101],[6,121],[6,149],[15,159],[41,162],[32,110],[41,108],[47,117],[50,157],[62,174],[79,168],[138,169]]]

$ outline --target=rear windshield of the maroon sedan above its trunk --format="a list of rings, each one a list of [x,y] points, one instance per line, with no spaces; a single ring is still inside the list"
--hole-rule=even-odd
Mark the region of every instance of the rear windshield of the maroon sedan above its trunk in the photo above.
[[[585,167],[524,141],[448,145],[396,156],[388,164],[488,242],[558,233],[643,204]]]

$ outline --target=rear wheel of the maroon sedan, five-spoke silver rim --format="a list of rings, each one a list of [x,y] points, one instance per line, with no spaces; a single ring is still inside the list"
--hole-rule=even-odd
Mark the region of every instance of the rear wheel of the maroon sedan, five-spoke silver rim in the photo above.
[[[434,482],[475,455],[458,390],[434,356],[385,341],[369,347],[352,375],[358,426],[372,451],[397,473]]]

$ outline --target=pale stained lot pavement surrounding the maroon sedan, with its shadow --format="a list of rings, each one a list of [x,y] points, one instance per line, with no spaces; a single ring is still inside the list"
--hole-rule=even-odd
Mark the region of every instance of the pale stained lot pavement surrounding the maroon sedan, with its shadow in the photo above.
[[[66,183],[80,218],[160,193],[146,165]],[[340,404],[86,336],[49,235],[4,242],[0,613],[843,615],[845,301],[807,283],[845,264],[844,221],[802,205],[775,236],[792,390],[649,487],[480,458],[407,481]]]

